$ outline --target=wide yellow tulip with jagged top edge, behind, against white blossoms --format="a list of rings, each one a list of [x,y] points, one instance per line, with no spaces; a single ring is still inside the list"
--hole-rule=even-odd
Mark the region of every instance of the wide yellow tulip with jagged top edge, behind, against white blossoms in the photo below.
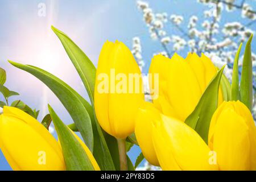
[[[189,53],[186,59],[177,55],[169,59],[162,55],[153,57],[149,73],[159,74],[159,97],[154,105],[164,115],[185,121],[195,109],[210,80],[217,73],[212,61],[202,53]],[[154,76],[150,88],[154,90]],[[220,90],[218,103],[223,101]]]

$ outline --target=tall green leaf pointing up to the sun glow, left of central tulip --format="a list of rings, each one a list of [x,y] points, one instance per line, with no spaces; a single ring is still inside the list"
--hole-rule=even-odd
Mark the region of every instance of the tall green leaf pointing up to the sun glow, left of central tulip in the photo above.
[[[90,101],[93,104],[96,68],[85,53],[66,34],[64,34],[64,32],[53,26],[52,30],[63,44],[65,51],[79,73],[79,76],[81,77],[81,80],[84,83],[90,97]]]

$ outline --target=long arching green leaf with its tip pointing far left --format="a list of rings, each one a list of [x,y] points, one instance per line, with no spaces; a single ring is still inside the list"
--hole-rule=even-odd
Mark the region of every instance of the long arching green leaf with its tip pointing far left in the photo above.
[[[50,73],[44,71],[43,69],[33,67],[31,65],[23,65],[19,63],[14,63],[9,61],[15,67],[23,69],[24,71],[31,73],[39,80],[44,82],[49,89],[59,98],[65,108],[68,110],[73,121],[76,123],[82,138],[85,141],[86,146],[93,151],[93,132],[92,123],[90,122],[90,117],[82,104],[81,100],[77,97],[77,93],[59,78],[51,75]]]

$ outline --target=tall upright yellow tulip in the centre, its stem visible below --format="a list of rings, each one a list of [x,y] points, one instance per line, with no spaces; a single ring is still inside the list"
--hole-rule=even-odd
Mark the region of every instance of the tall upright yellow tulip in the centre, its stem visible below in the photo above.
[[[141,71],[133,54],[122,42],[106,42],[98,60],[94,91],[102,129],[115,138],[126,138],[134,132],[135,114],[143,100]]]

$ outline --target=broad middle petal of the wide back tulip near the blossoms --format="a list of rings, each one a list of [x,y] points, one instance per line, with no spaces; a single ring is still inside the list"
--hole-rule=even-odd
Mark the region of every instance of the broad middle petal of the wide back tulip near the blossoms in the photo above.
[[[175,106],[178,119],[185,121],[201,97],[199,81],[187,61],[171,59],[167,90],[168,101]]]

